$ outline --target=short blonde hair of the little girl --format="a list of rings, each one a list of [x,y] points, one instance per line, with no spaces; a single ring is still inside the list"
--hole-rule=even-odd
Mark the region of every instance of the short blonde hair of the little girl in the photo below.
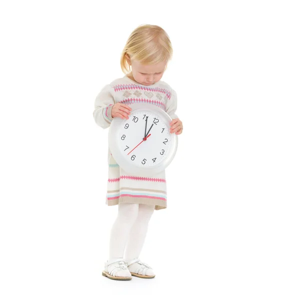
[[[122,51],[121,69],[125,74],[130,72],[126,54],[142,64],[167,63],[173,49],[168,34],[160,26],[142,24],[132,31]]]

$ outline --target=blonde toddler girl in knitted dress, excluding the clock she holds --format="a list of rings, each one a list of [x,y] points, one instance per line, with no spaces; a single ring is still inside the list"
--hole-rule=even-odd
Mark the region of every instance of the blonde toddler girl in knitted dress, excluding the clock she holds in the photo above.
[[[175,114],[176,92],[160,80],[171,56],[169,37],[161,27],[146,24],[134,29],[121,54],[125,75],[105,85],[95,98],[96,124],[107,128],[114,117],[128,119],[130,104],[145,102],[167,112],[172,118],[170,132],[181,134],[182,122]],[[166,208],[165,171],[152,177],[130,175],[108,150],[106,204],[118,205],[118,214],[111,228],[109,258],[102,274],[121,280],[129,280],[132,275],[153,278],[153,269],[140,261],[139,254],[153,211]]]

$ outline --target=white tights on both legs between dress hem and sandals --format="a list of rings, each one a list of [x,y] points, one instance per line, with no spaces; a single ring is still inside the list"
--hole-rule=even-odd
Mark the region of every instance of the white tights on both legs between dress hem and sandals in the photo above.
[[[139,256],[155,205],[119,203],[109,242],[109,261]]]

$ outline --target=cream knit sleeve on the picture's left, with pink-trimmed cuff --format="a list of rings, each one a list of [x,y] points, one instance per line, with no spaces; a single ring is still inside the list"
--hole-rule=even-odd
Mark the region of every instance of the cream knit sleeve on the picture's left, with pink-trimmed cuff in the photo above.
[[[112,121],[111,108],[114,103],[113,87],[107,84],[96,96],[92,113],[96,124],[104,129],[109,127]]]

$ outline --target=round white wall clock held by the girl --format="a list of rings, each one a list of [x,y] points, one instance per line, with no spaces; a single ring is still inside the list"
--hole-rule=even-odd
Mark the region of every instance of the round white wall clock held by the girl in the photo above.
[[[158,106],[134,103],[129,119],[113,118],[108,145],[118,165],[133,175],[150,176],[165,169],[177,150],[169,132],[170,116]]]

